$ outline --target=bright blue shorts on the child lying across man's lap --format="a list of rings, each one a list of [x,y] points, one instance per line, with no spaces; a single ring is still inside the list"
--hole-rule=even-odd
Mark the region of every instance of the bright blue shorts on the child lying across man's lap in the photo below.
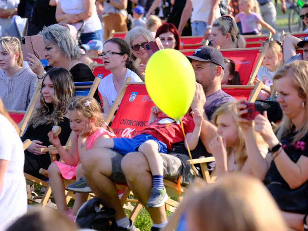
[[[167,153],[167,145],[151,135],[141,134],[133,138],[113,138],[113,150],[126,155],[129,152],[138,152],[138,148],[147,140],[154,140],[158,144],[158,152]]]

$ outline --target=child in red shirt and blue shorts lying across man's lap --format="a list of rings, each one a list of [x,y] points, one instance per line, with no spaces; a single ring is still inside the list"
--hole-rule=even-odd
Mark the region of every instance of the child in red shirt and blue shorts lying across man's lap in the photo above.
[[[202,114],[198,109],[186,113],[181,118],[186,134],[186,141],[190,150],[196,148],[201,132]],[[83,138],[85,140],[85,138]],[[96,148],[112,148],[124,155],[129,152],[142,152],[147,158],[152,173],[152,190],[147,202],[148,208],[157,208],[164,205],[168,199],[164,187],[164,166],[161,153],[167,153],[172,145],[184,140],[180,124],[161,113],[158,107],[152,108],[148,128],[145,128],[139,135],[133,138],[102,139]],[[185,148],[188,148],[185,144]],[[77,181],[75,184],[81,184]]]

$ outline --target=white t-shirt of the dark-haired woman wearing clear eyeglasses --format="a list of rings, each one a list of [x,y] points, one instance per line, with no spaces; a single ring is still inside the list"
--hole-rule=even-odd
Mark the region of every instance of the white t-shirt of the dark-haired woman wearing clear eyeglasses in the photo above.
[[[132,80],[131,82],[142,82],[140,77],[133,72],[132,70],[127,69],[125,79],[127,77],[130,77]],[[124,79],[124,81],[125,81]],[[115,85],[113,83],[113,75],[109,74],[105,78],[103,78],[99,82],[98,86],[99,93],[103,96],[106,97],[108,100],[108,103],[110,107],[112,106],[113,102],[115,101],[115,98],[118,95],[118,92],[115,90]]]

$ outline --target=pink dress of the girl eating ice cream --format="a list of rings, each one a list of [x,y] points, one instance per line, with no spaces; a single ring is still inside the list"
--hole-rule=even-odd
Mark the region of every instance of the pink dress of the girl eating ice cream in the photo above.
[[[102,135],[108,135],[110,138],[116,138],[115,134],[108,132],[105,128],[99,128],[96,130],[94,134],[87,137],[86,144],[87,149],[90,150],[93,147],[93,144],[97,138],[99,138]],[[59,161],[53,161],[57,164],[61,175],[64,179],[71,180],[76,179],[76,170],[78,165],[71,166],[69,164],[65,164],[64,162]]]

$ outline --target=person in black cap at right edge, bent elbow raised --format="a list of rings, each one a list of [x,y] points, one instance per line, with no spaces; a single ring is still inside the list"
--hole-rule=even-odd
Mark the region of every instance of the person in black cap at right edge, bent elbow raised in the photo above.
[[[303,47],[303,53],[297,54],[296,49]],[[283,42],[283,58],[286,64],[294,60],[307,60],[308,61],[308,35],[304,40],[287,34]]]

